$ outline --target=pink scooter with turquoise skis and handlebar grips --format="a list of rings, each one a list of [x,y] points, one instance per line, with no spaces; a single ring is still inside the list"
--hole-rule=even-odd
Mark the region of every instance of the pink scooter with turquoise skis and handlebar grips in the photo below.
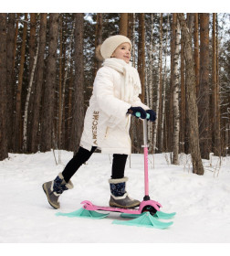
[[[141,113],[136,113],[137,117],[141,117]],[[127,218],[131,220],[114,220],[113,224],[129,225],[129,226],[145,226],[157,229],[166,229],[173,224],[171,222],[162,222],[158,219],[172,219],[175,212],[165,213],[160,208],[162,205],[154,201],[149,196],[149,177],[148,177],[148,144],[147,144],[147,119],[150,118],[147,113],[146,119],[143,119],[143,142],[142,147],[144,148],[144,192],[145,196],[141,201],[139,208],[114,208],[114,207],[101,207],[93,205],[90,201],[82,201],[83,207],[77,211],[71,213],[57,213],[57,216],[68,216],[68,217],[80,217],[90,219],[102,219],[107,217],[109,214],[102,214],[97,211],[109,211],[109,212],[120,212],[121,218]]]

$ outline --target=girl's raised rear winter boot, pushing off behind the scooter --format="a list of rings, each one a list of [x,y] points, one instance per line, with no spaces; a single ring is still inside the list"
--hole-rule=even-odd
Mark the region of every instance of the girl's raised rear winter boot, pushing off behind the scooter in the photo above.
[[[50,206],[53,208],[60,208],[58,198],[63,191],[72,189],[74,186],[70,180],[66,183],[62,174],[59,173],[55,180],[44,183],[42,187],[47,195],[47,200]]]

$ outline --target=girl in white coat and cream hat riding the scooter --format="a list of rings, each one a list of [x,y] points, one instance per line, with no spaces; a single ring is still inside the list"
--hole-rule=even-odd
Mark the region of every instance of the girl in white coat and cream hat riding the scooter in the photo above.
[[[71,176],[97,148],[102,153],[113,154],[109,179],[110,207],[136,208],[140,205],[140,201],[132,199],[125,189],[128,180],[124,176],[125,164],[127,156],[131,155],[131,114],[135,116],[140,112],[141,118],[145,119],[148,112],[152,122],[156,114],[138,97],[141,81],[137,69],[130,65],[131,40],[121,35],[109,37],[96,53],[98,59],[103,60],[103,67],[94,80],[78,153],[55,180],[43,184],[53,208],[60,207],[58,197],[64,190],[73,188]]]

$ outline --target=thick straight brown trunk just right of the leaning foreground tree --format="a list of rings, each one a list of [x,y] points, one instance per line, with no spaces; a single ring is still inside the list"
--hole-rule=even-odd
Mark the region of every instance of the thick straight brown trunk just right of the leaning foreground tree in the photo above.
[[[202,158],[209,159],[209,14],[201,14],[200,91],[198,95],[200,146]]]

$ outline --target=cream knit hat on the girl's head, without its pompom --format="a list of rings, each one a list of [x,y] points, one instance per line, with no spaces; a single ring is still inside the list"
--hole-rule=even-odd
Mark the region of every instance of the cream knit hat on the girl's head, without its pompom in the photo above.
[[[131,45],[131,40],[128,37],[122,35],[108,37],[100,47],[101,57],[103,59],[110,58],[114,50],[118,48],[122,43],[129,43]]]

